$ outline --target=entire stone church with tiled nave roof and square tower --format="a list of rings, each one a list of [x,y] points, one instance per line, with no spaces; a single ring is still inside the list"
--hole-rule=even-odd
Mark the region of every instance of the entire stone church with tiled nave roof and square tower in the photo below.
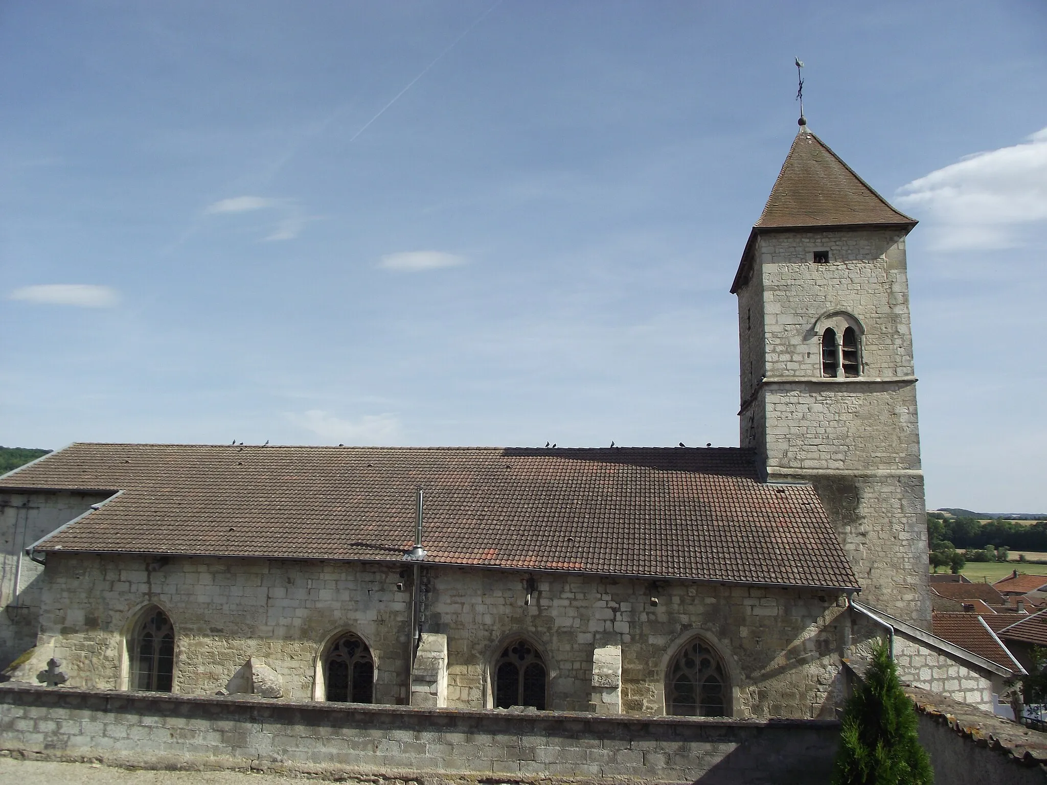
[[[7,676],[811,719],[888,637],[905,680],[992,708],[999,666],[930,632],[915,225],[801,118],[731,286],[737,448],[74,443],[18,469]]]

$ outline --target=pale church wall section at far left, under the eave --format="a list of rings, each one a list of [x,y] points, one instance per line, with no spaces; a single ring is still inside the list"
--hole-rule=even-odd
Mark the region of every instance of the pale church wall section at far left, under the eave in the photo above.
[[[25,555],[25,548],[109,495],[62,491],[0,494],[0,670],[37,640],[44,568]]]

